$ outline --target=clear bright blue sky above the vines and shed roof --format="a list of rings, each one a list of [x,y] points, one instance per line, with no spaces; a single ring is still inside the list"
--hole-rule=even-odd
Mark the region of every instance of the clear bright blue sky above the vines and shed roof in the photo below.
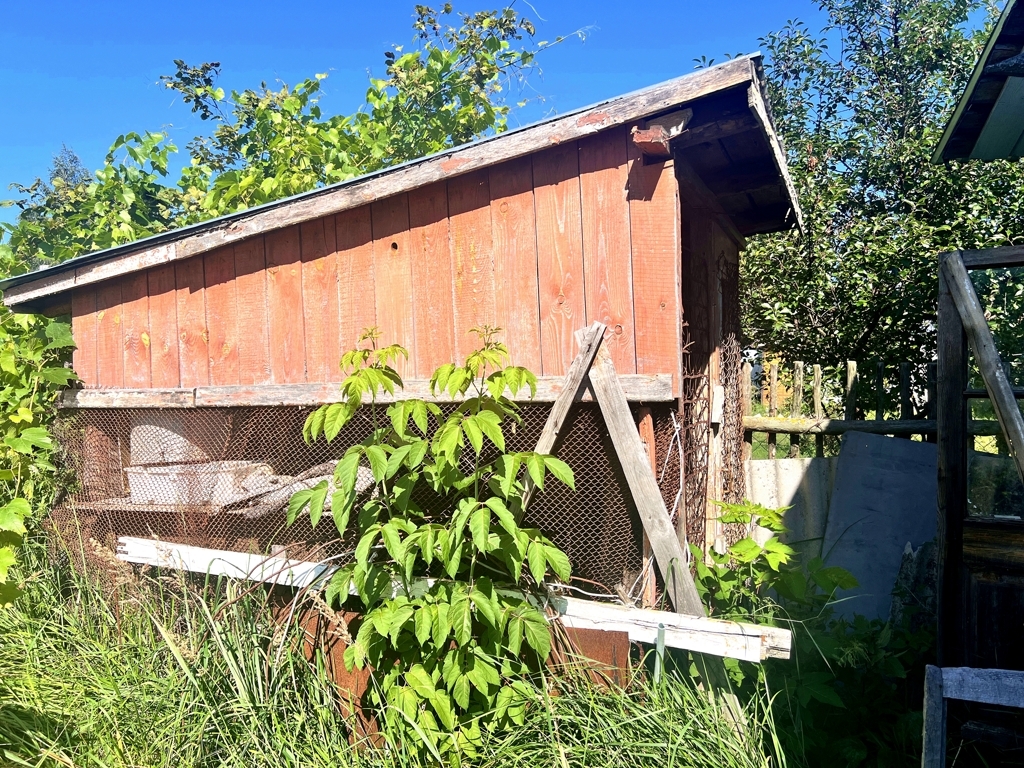
[[[351,112],[362,102],[368,74],[382,74],[383,51],[412,41],[413,5],[0,0],[0,200],[11,197],[11,182],[44,175],[62,143],[90,169],[130,130],[166,130],[183,147],[203,126],[158,82],[175,58],[220,61],[228,89],[326,72],[323,109]],[[498,5],[456,3],[466,10]],[[537,22],[539,39],[587,30],[586,41],[544,54],[520,122],[690,72],[701,55],[720,60],[756,50],[761,36],[791,18],[813,28],[821,18],[812,0],[517,0],[516,7]],[[0,218],[10,217],[11,209],[0,209]]]

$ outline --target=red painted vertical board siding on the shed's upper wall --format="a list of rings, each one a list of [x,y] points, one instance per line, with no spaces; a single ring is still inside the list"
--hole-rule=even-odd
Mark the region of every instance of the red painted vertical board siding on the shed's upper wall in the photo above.
[[[425,378],[489,325],[558,376],[600,319],[621,373],[677,375],[681,259],[672,163],[616,128],[78,289],[75,367],[90,387],[339,381],[377,327]]]

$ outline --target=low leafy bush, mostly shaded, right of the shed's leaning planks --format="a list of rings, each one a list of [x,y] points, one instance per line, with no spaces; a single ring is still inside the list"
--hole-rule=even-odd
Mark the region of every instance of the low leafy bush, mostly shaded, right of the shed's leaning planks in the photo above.
[[[722,520],[757,524],[711,562],[694,551],[696,585],[712,615],[793,631],[793,657],[763,666],[726,659],[748,694],[762,685],[786,755],[805,765],[915,765],[920,762],[924,666],[933,653],[932,625],[905,610],[897,625],[837,616],[842,590],[857,586],[844,568],[820,557],[801,563],[778,536],[784,509],[721,504]]]

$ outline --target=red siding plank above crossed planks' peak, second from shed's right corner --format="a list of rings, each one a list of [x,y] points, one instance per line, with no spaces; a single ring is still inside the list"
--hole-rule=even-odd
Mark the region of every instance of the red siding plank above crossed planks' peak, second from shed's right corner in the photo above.
[[[580,141],[587,318],[608,327],[605,344],[615,370],[624,374],[637,370],[628,140],[623,126]]]

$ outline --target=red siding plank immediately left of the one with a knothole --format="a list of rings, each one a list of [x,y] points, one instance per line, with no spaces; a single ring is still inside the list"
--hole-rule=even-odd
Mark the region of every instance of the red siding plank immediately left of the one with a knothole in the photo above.
[[[377,298],[374,295],[374,236],[370,206],[345,211],[335,216],[338,238],[338,357],[354,349],[359,336],[377,325]],[[339,369],[337,380],[342,377]]]

